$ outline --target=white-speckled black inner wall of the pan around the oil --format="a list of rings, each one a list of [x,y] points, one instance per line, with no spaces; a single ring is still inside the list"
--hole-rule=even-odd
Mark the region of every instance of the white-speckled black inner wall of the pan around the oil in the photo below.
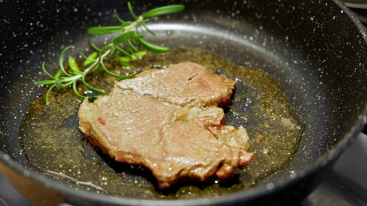
[[[40,2],[37,4],[40,9],[34,14],[31,9],[15,10],[20,5],[13,8],[14,12],[23,11],[29,16],[36,16],[36,11],[43,15],[40,19],[24,17],[21,24],[24,24],[23,33],[28,32],[28,37],[16,41],[19,32],[8,37],[13,43],[19,43],[17,46],[7,45],[9,52],[1,54],[6,59],[2,65],[8,65],[10,70],[4,67],[2,71],[7,72],[0,79],[1,88],[5,88],[0,95],[0,122],[3,122],[0,151],[31,170],[32,174],[44,175],[30,167],[19,140],[19,134],[22,134],[19,128],[30,102],[44,93],[44,88],[33,86],[34,81],[44,78],[40,63],[46,61],[47,67],[55,71],[63,47],[74,45],[70,55],[78,56],[80,51],[88,52],[89,41],[103,42],[105,37],[87,36],[86,29],[116,24],[112,14],[117,6],[111,2],[95,5],[73,1],[72,9],[66,3]],[[366,38],[333,1],[183,3],[186,10],[182,14],[153,19],[150,28],[157,36],[149,36],[149,40],[171,48],[202,48],[235,65],[265,71],[280,81],[282,92],[295,115],[305,125],[299,149],[289,166],[265,177],[257,187],[293,174],[293,178],[298,177],[305,166],[333,150],[345,136],[356,130],[361,119],[366,118],[363,116],[367,102]],[[143,1],[133,6],[141,11],[160,4],[164,3]],[[118,5],[122,7],[126,2]],[[327,7],[327,11],[318,10],[319,7]],[[126,12],[124,7],[121,10]],[[19,13],[19,16],[25,14]],[[52,17],[55,15],[57,18]],[[121,16],[129,19],[127,13]],[[66,126],[69,123],[75,124],[62,122]],[[45,177],[52,183],[83,188],[57,175]],[[103,185],[96,186],[103,188]]]

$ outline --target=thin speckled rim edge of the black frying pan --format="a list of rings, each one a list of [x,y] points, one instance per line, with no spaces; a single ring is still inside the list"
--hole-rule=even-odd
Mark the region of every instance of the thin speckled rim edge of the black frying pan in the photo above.
[[[356,16],[344,5],[341,3],[340,0],[332,0],[335,4],[337,4],[346,14],[349,16],[349,18],[353,21],[353,23],[356,25],[359,32],[362,34],[362,38],[364,42],[367,44],[367,30],[366,27],[364,27],[361,22],[356,18]],[[367,102],[364,102],[363,104],[363,111],[362,115],[367,113]],[[14,160],[12,160],[9,155],[4,153],[3,151],[0,151],[0,161],[3,162],[6,166],[14,169],[19,174],[23,175],[25,171],[29,172],[29,177],[31,180],[36,181],[40,184],[49,184],[49,188],[53,189],[55,191],[61,192],[62,195],[65,195],[66,197],[78,197],[83,199],[88,199],[91,201],[96,202],[105,202],[110,204],[124,204],[124,205],[143,205],[143,204],[149,204],[149,205],[172,205],[174,203],[175,205],[212,205],[213,203],[215,205],[222,205],[227,204],[229,202],[236,202],[241,200],[250,201],[252,199],[258,198],[260,196],[264,196],[266,194],[272,193],[273,191],[280,190],[283,187],[286,187],[286,185],[294,184],[299,179],[302,179],[304,176],[309,176],[320,168],[324,167],[325,161],[330,162],[334,160],[335,158],[338,158],[342,151],[349,145],[349,143],[353,140],[355,136],[359,134],[359,132],[363,129],[363,126],[366,125],[366,122],[364,122],[363,118],[358,119],[355,123],[352,129],[344,135],[344,137],[341,138],[341,140],[335,145],[335,147],[329,151],[327,151],[325,154],[320,155],[315,161],[310,163],[309,165],[305,166],[305,169],[301,170],[301,172],[304,172],[304,174],[299,175],[299,173],[296,173],[296,176],[294,174],[288,175],[286,177],[282,177],[278,179],[276,182],[273,182],[273,188],[269,190],[266,185],[261,185],[255,188],[250,188],[246,191],[237,192],[235,194],[225,195],[217,198],[203,198],[203,199],[189,199],[189,200],[142,200],[142,199],[131,199],[131,198],[124,198],[124,197],[118,197],[115,198],[109,195],[103,195],[103,194],[94,194],[90,195],[90,192],[82,191],[82,190],[70,190],[70,187],[62,184],[58,184],[56,181],[50,181],[43,175],[37,174],[36,172],[33,172],[23,166],[21,163],[17,163]],[[302,177],[301,177],[302,176]]]

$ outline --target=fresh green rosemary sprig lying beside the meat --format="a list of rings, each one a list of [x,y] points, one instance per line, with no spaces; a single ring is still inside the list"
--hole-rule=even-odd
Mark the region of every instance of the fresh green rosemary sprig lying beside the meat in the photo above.
[[[130,2],[127,3],[128,10],[130,11],[131,16],[135,19],[134,22],[130,21],[124,21],[120,18],[120,16],[117,14],[116,9],[114,10],[116,19],[121,23],[120,26],[103,26],[103,27],[91,27],[88,29],[89,34],[110,34],[115,32],[121,32],[121,34],[115,38],[113,38],[112,43],[109,43],[108,40],[106,41],[106,46],[103,48],[98,48],[96,45],[91,44],[91,47],[96,50],[96,52],[93,52],[91,55],[86,56],[83,53],[80,53],[84,61],[84,70],[80,70],[77,66],[75,59],[73,57],[69,57],[69,67],[70,71],[66,71],[65,67],[63,65],[64,59],[66,54],[69,52],[69,50],[72,48],[71,46],[66,47],[59,58],[59,66],[60,69],[55,74],[55,76],[52,76],[49,74],[45,69],[45,62],[42,63],[42,70],[44,73],[50,77],[50,80],[43,80],[43,81],[37,81],[34,84],[35,85],[51,85],[51,87],[48,89],[46,93],[46,104],[49,103],[49,96],[55,87],[59,89],[65,89],[67,87],[72,87],[75,95],[83,100],[86,98],[85,96],[82,96],[78,93],[76,89],[76,84],[79,80],[83,83],[83,86],[87,88],[89,91],[96,93],[98,95],[104,95],[106,92],[101,91],[99,89],[96,89],[94,87],[91,87],[86,81],[85,77],[90,72],[93,71],[95,76],[99,75],[99,70],[103,68],[103,70],[108,73],[110,76],[118,78],[118,79],[127,79],[134,77],[137,72],[130,75],[120,76],[113,74],[110,72],[104,65],[103,61],[107,59],[117,59],[121,65],[126,67],[131,67],[127,64],[130,60],[139,59],[141,56],[144,56],[146,54],[146,51],[139,51],[136,45],[140,45],[141,47],[145,48],[148,51],[156,52],[156,53],[163,53],[170,51],[170,48],[168,47],[161,47],[159,45],[155,45],[152,43],[149,43],[142,38],[145,36],[145,34],[138,34],[137,30],[140,28],[145,28],[146,31],[149,33],[155,35],[153,31],[148,29],[146,26],[146,22],[149,21],[148,18],[153,16],[159,16],[159,15],[167,15],[172,14],[175,12],[182,11],[185,6],[183,5],[168,5],[164,7],[158,7],[154,8],[152,10],[149,10],[140,16],[135,15],[134,11],[132,10]],[[132,28],[136,28],[136,30],[132,30]],[[123,48],[120,47],[120,45],[123,46]],[[130,52],[130,53],[129,53]],[[88,100],[90,102],[97,99],[97,97],[92,96],[88,97]]]

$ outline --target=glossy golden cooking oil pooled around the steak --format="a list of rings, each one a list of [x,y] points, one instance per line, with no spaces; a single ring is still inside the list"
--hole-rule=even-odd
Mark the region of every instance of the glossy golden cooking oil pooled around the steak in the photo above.
[[[205,182],[182,180],[172,188],[161,190],[149,170],[116,162],[88,143],[78,129],[80,101],[72,89],[53,91],[49,105],[45,104],[45,95],[30,104],[19,134],[30,165],[65,179],[78,189],[144,199],[191,199],[231,194],[251,188],[265,176],[287,168],[299,147],[305,126],[287,103],[279,81],[265,72],[235,66],[202,49],[149,53],[142,60],[130,62],[132,69],[121,69],[113,61],[106,65],[111,71],[124,75],[180,62],[198,63],[212,73],[238,82],[232,103],[224,108],[226,124],[246,126],[250,152],[255,152],[255,157],[243,168],[237,168],[232,178],[221,181],[212,177]],[[88,78],[93,87],[106,92],[115,81],[103,72],[97,78],[92,75]],[[84,88],[79,89],[80,93],[85,92]]]

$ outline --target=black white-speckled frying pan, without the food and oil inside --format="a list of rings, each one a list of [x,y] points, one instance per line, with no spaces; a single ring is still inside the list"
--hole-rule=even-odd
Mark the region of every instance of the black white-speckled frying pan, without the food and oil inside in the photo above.
[[[337,0],[136,1],[137,13],[167,4],[186,10],[150,22],[153,43],[203,48],[236,65],[257,67],[280,81],[306,125],[288,168],[246,191],[217,198],[142,200],[112,197],[33,169],[19,141],[29,103],[43,95],[42,61],[57,62],[62,45],[89,48],[89,26],[130,19],[125,1],[0,1],[0,169],[35,205],[272,205],[314,190],[366,124],[366,29]],[[166,31],[172,31],[167,37]],[[101,39],[100,39],[101,40]],[[75,49],[75,55],[80,52]],[[56,63],[49,67],[57,69]]]

